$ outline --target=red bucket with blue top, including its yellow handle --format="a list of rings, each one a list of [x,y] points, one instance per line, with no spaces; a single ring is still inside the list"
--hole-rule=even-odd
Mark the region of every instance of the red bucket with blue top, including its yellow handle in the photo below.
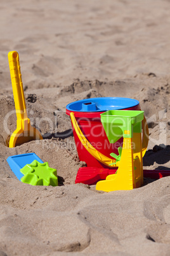
[[[75,145],[79,159],[86,162],[87,167],[83,167],[82,177],[87,171],[90,181],[89,168],[94,167],[96,173],[100,169],[115,169],[116,160],[110,156],[110,153],[119,155],[118,148],[122,146],[123,138],[119,136],[116,143],[110,143],[107,134],[101,124],[100,115],[107,110],[140,110],[139,101],[120,97],[101,97],[93,99],[84,99],[70,103],[66,107],[67,115],[70,115],[74,133]],[[143,118],[143,138],[142,155],[145,155],[148,145],[148,126]],[[81,182],[81,171],[79,169],[75,183]],[[94,173],[91,173],[91,178]]]

